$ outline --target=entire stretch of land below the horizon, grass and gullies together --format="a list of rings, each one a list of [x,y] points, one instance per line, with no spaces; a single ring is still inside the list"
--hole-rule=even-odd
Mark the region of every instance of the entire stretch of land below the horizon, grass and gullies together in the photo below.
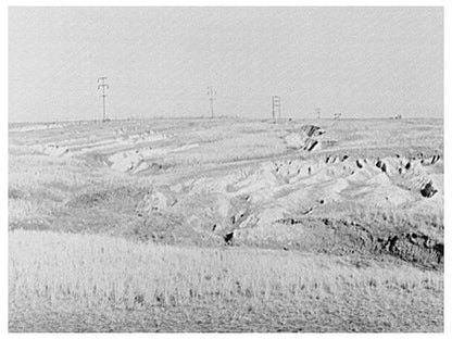
[[[10,330],[442,331],[442,126],[10,126]]]

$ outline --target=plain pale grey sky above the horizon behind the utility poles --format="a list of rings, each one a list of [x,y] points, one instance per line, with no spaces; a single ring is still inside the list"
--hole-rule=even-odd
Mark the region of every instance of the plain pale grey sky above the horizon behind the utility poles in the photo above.
[[[442,8],[10,8],[9,121],[443,117]]]

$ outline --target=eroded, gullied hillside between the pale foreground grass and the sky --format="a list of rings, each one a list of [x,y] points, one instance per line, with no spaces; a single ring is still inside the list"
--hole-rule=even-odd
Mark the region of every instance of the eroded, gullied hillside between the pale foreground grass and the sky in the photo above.
[[[427,120],[13,126],[9,226],[442,276],[442,136]]]

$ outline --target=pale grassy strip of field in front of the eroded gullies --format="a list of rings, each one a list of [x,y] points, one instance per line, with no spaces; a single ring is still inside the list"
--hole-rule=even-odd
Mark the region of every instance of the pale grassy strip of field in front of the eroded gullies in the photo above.
[[[298,252],[17,230],[10,235],[9,278],[11,330],[437,331],[443,326],[441,274]]]

